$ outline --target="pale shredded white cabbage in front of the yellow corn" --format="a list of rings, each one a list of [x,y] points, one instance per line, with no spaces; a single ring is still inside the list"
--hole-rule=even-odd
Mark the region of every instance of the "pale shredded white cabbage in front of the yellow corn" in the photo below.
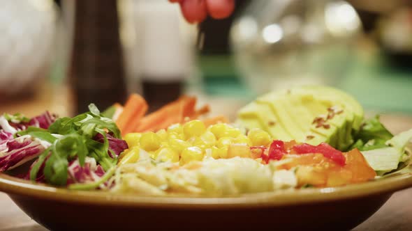
[[[225,196],[293,188],[295,173],[274,171],[249,158],[205,159],[184,166],[140,161],[119,166],[112,191],[162,195],[191,193]]]

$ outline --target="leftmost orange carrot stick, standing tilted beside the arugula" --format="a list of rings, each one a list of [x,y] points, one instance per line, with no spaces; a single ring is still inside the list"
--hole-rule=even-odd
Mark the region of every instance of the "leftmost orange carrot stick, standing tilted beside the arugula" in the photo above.
[[[116,120],[116,125],[119,127],[122,134],[126,134],[133,130],[131,123],[135,120],[140,120],[147,111],[147,103],[143,97],[138,94],[132,94],[128,97],[124,104],[123,111]]]

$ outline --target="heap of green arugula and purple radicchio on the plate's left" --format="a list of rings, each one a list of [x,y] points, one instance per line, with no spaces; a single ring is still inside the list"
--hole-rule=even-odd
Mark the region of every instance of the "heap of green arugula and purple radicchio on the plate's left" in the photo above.
[[[101,170],[109,171],[114,168],[117,156],[126,150],[128,145],[126,141],[119,139],[120,131],[115,122],[101,117],[94,104],[90,104],[89,109],[90,112],[74,118],[59,118],[51,125],[54,117],[45,113],[30,120],[29,123],[36,127],[21,127],[24,129],[18,128],[20,132],[15,129],[16,138],[7,140],[6,143],[2,141],[2,147],[6,145],[6,148],[1,150],[0,171],[15,168],[38,157],[31,165],[29,178],[65,186],[71,182],[89,183],[80,180],[73,169],[69,168],[73,163],[78,163],[81,169],[76,169],[82,173],[88,171],[87,169],[94,170],[94,167],[91,168],[94,165],[85,166],[90,164],[90,161],[96,161],[96,174],[100,174]],[[2,121],[3,128],[6,123]],[[1,134],[8,135],[7,137],[11,134],[0,131]],[[5,135],[1,137],[3,136]]]

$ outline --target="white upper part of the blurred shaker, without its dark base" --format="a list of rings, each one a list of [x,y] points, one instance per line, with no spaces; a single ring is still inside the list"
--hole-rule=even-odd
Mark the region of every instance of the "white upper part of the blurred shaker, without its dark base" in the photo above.
[[[178,6],[164,0],[135,1],[134,6],[141,76],[149,81],[186,77],[193,47],[182,38]]]

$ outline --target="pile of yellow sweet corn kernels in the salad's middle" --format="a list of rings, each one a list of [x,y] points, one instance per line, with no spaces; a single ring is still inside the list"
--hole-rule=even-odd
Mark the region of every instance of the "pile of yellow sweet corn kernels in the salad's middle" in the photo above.
[[[202,121],[191,120],[158,132],[129,133],[124,140],[129,149],[121,155],[119,165],[137,162],[140,149],[149,152],[153,159],[179,164],[202,161],[205,157],[251,157],[251,146],[269,145],[271,138],[261,129],[251,129],[246,136],[228,124],[205,127]]]

